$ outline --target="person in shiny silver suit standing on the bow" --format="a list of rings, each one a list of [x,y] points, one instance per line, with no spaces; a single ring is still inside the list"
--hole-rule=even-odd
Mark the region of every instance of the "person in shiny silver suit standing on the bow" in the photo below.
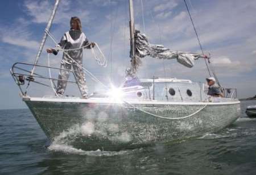
[[[56,45],[55,48],[49,48],[46,51],[48,53],[53,53],[57,55],[59,52],[58,48],[62,49],[75,49],[72,51],[67,51],[68,55],[75,60],[74,62],[69,56],[63,53],[63,58],[61,60],[61,69],[68,69],[71,70],[73,66],[73,70],[75,73],[75,78],[77,80],[77,84],[82,94],[82,98],[88,98],[88,89],[86,86],[85,81],[85,74],[82,70],[82,48],[85,47],[90,49],[94,47],[95,43],[89,43],[88,39],[86,38],[85,34],[82,32],[81,21],[78,17],[74,16],[70,20],[71,30],[65,32],[64,36],[61,38],[60,43]],[[80,49],[77,49],[80,48]],[[79,65],[77,65],[79,64]],[[69,71],[68,70],[60,70],[59,73],[59,80],[57,82],[57,90],[56,93],[60,96],[64,94],[64,91],[67,87],[67,80],[69,78]]]

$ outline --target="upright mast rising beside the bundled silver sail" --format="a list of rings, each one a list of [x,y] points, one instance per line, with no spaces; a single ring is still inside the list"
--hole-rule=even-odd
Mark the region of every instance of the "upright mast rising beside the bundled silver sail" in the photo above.
[[[131,44],[131,70],[135,72],[134,68],[134,55],[135,55],[135,42],[134,42],[134,13],[133,13],[133,0],[129,0],[129,11],[130,11],[130,44]]]

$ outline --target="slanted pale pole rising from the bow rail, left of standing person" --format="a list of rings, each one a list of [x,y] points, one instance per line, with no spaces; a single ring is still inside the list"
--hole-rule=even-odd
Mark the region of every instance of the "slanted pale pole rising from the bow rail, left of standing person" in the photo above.
[[[52,10],[52,14],[48,20],[48,23],[47,23],[47,26],[46,26],[46,31],[49,31],[51,26],[52,26],[52,21],[53,21],[53,18],[56,14],[56,11],[57,11],[57,7],[59,6],[59,2],[60,0],[56,0],[55,1],[55,5],[53,7],[53,10]],[[33,66],[33,69],[31,70],[31,76],[34,74],[34,71],[35,71],[35,65],[38,64],[38,60],[39,60],[39,57],[42,53],[42,50],[43,50],[43,47],[44,47],[44,44],[46,43],[46,39],[47,39],[47,34],[46,32],[44,33],[44,36],[43,36],[43,39],[42,39],[42,42],[40,44],[40,47],[38,49],[38,54],[36,55],[36,59],[35,59],[35,62],[34,62],[34,66]]]

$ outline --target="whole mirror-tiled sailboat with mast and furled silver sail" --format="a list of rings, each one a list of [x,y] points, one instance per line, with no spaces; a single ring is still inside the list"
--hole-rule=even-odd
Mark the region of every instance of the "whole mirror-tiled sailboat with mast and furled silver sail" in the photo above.
[[[44,77],[35,68],[59,69],[38,65],[58,5],[56,0],[35,63],[16,62],[10,70],[23,101],[49,140],[85,150],[134,148],[217,132],[240,116],[240,101],[234,98],[236,89],[222,87],[224,98],[208,97],[205,87],[191,80],[136,76],[139,62],[147,55],[176,59],[190,67],[204,55],[173,52],[148,43],[146,35],[134,28],[133,0],[129,0],[129,81],[118,88],[106,87],[104,92],[93,93],[88,99],[56,95],[31,97],[23,87],[42,84],[40,78],[49,79],[52,89],[55,88],[53,81],[57,78]]]

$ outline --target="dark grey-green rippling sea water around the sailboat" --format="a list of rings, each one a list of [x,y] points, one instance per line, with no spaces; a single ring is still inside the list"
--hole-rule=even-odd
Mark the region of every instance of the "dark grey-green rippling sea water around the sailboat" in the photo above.
[[[0,110],[0,174],[256,174],[256,118],[200,138],[124,151],[54,145],[28,109]]]

